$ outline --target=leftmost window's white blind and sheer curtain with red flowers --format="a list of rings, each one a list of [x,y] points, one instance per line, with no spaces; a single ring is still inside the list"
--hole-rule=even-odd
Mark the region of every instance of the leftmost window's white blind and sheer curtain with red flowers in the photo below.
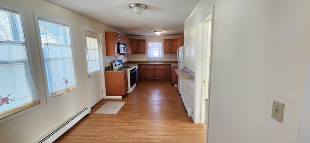
[[[0,7],[0,119],[38,104],[20,15]]]

